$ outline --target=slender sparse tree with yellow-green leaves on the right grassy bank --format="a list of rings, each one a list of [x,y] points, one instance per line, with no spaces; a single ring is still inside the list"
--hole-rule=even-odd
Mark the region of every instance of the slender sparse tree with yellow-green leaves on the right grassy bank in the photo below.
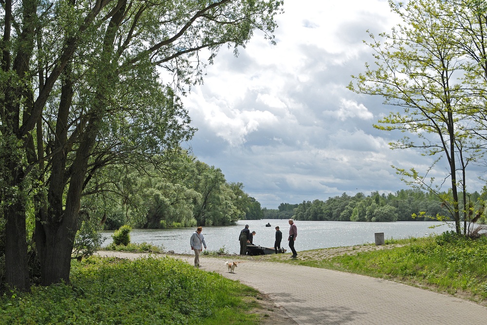
[[[390,1],[403,23],[368,43],[375,62],[354,76],[349,88],[381,96],[398,110],[375,125],[407,135],[393,149],[412,148],[434,156],[424,170],[396,167],[412,186],[440,195],[458,234],[466,234],[476,202],[467,197],[469,167],[485,153],[487,11],[478,0]],[[439,161],[447,174],[438,182],[427,175]],[[436,184],[436,185],[435,185]]]

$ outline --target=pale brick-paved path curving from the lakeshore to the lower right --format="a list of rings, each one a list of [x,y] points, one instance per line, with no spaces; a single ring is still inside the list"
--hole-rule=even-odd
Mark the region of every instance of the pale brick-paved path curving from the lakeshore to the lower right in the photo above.
[[[192,257],[180,258],[193,264]],[[269,295],[299,325],[487,324],[486,307],[428,290],[323,268],[236,261],[228,273],[224,260],[200,256],[202,269]]]

